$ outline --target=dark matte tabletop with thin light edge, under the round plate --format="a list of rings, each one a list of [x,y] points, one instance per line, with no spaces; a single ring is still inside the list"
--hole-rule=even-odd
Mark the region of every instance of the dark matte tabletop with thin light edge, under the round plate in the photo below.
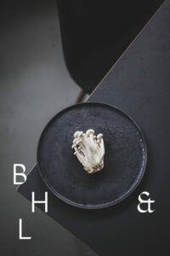
[[[88,98],[122,108],[144,131],[147,169],[138,189],[125,201],[103,210],[71,207],[42,183],[37,166],[18,189],[31,201],[44,200],[48,215],[99,255],[170,255],[170,1],[167,0]],[[139,213],[138,196],[148,191],[153,213]],[[44,205],[38,204],[44,210]]]

